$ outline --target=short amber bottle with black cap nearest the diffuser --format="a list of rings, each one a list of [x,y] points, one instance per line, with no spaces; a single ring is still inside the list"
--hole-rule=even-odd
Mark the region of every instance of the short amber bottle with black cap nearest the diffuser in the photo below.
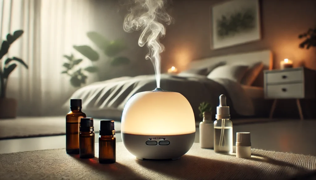
[[[102,164],[116,162],[116,139],[114,135],[114,121],[102,120],[99,137],[99,162]]]

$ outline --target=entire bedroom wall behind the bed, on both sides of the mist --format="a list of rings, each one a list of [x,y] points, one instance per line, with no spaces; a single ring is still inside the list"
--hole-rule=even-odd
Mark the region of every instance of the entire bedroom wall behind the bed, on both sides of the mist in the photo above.
[[[131,64],[125,67],[111,67],[100,60],[103,68],[101,79],[120,76],[136,76],[153,74],[154,69],[149,60],[145,60],[147,47],[137,44],[140,32],[127,33],[123,30],[123,20],[126,7],[120,6],[117,0],[94,0],[95,21],[97,31],[109,39],[123,38],[129,49],[124,53],[131,59]],[[161,69],[166,72],[171,66],[183,70],[195,59],[219,56],[231,53],[241,53],[261,49],[274,52],[275,68],[279,61],[288,58],[295,66],[302,63],[316,69],[316,48],[299,49],[300,33],[316,26],[316,0],[262,0],[261,24],[262,39],[257,42],[236,45],[223,49],[210,49],[210,7],[223,0],[173,0],[170,14],[173,24],[167,26],[167,33],[161,42],[166,47],[161,54]]]

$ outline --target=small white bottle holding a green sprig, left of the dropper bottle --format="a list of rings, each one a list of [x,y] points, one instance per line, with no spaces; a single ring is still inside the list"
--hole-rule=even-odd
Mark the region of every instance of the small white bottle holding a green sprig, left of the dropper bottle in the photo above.
[[[212,113],[204,112],[203,121],[200,122],[200,147],[214,148],[214,122]]]

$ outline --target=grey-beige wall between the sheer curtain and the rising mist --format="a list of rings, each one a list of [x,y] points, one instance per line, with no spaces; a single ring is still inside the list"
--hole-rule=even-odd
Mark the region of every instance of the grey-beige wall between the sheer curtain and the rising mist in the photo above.
[[[150,60],[145,59],[148,52],[147,47],[138,46],[138,38],[140,32],[127,33],[123,30],[124,16],[127,13],[126,7],[119,5],[124,2],[118,0],[94,0],[96,27],[95,31],[99,32],[109,40],[123,39],[128,49],[122,53],[131,59],[131,63],[127,66],[112,67],[107,64],[107,59],[103,58],[97,62],[102,69],[99,71],[100,79],[106,80],[121,76],[137,76],[140,74],[153,74],[154,67]]]

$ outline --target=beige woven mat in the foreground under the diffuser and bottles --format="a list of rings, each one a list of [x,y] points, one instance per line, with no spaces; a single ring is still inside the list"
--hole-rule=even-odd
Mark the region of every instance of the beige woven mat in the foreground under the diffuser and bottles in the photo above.
[[[65,149],[0,154],[1,179],[315,179],[316,157],[252,149],[249,159],[216,154],[194,143],[179,160],[137,160],[116,143],[116,163],[80,159]]]

